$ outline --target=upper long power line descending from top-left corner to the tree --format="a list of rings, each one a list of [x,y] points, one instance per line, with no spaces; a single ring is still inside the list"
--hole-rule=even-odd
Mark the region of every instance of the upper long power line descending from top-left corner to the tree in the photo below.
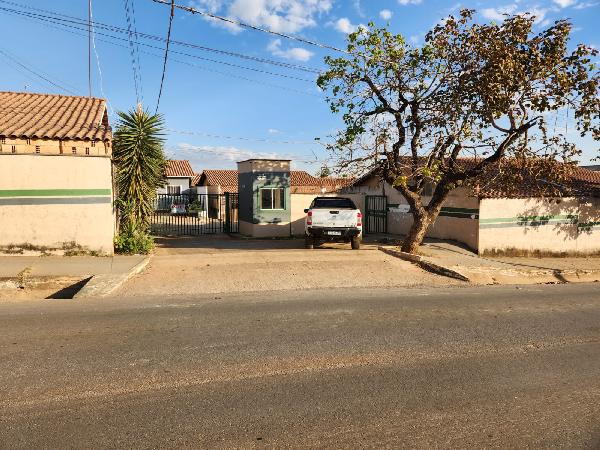
[[[15,12],[15,13],[18,13],[18,14],[21,14],[21,15],[30,14],[32,16],[38,16],[38,17],[42,17],[42,18],[51,18],[51,19],[54,19],[54,20],[75,23],[77,25],[81,25],[81,23],[82,23],[82,21],[81,21],[80,18],[77,18],[77,17],[74,17],[74,16],[69,16],[69,15],[66,15],[66,14],[60,14],[60,13],[57,13],[55,11],[50,11],[50,10],[47,10],[47,9],[34,8],[32,6],[29,6],[29,5],[22,5],[22,4],[19,4],[19,3],[16,3],[16,2],[12,2],[12,1],[9,1],[9,0],[0,0],[0,3],[9,4],[9,5],[12,5],[12,6],[19,7],[19,8],[30,9],[30,10],[33,10],[33,11],[39,11],[39,12],[51,14],[52,16],[56,16],[56,17],[49,17],[47,15],[36,14],[36,13],[27,13],[27,12],[24,12],[24,11],[18,11],[18,10],[14,10],[14,9],[10,9],[10,8],[0,8],[0,9],[3,9],[5,11],[12,11],[12,12]],[[105,24],[105,23],[101,23],[101,22],[94,22],[93,25],[96,28],[105,29],[107,31],[124,33],[124,34],[128,34],[129,33],[128,30],[126,30],[124,28],[121,28],[121,27],[118,27],[118,26],[115,26],[115,25]],[[139,36],[139,37],[142,37],[144,39],[155,40],[155,41],[160,41],[160,42],[165,42],[166,41],[165,38],[163,38],[161,36],[156,36],[156,35],[147,34],[147,33],[140,33],[140,32],[137,32],[136,30],[133,30],[133,34],[135,36]],[[217,53],[217,54],[221,54],[221,55],[225,55],[225,56],[230,56],[230,57],[235,57],[235,58],[240,58],[240,59],[246,59],[246,60],[250,60],[250,61],[253,61],[253,62],[270,64],[270,65],[275,65],[275,66],[279,66],[279,67],[284,67],[284,68],[290,69],[290,70],[300,70],[300,71],[314,73],[314,74],[318,74],[318,73],[321,72],[319,69],[316,69],[316,68],[313,68],[313,67],[303,66],[303,65],[300,65],[300,64],[294,64],[294,63],[288,63],[288,62],[282,62],[282,61],[275,61],[275,60],[268,59],[268,58],[261,58],[261,57],[257,57],[257,56],[246,55],[246,54],[243,54],[243,53],[237,53],[237,52],[233,52],[233,51],[221,50],[221,49],[216,49],[216,48],[212,48],[212,47],[206,47],[206,46],[202,46],[202,45],[197,45],[197,44],[193,44],[193,43],[190,43],[190,42],[171,40],[171,43],[174,44],[174,45],[181,45],[181,46],[185,46],[185,47],[189,47],[189,48],[194,48],[196,50],[206,51],[206,52],[210,52],[210,53]]]

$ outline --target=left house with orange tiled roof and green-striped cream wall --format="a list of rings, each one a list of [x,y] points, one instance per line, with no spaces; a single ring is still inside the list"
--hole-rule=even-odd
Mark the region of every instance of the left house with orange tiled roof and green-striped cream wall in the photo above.
[[[0,92],[0,247],[111,254],[111,157],[104,99]]]

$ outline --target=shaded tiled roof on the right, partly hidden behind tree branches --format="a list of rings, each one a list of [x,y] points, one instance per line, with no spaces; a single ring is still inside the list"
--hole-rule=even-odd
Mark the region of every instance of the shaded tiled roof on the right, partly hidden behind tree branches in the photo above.
[[[543,162],[543,160],[541,160]],[[479,161],[474,158],[461,158],[459,162],[464,168],[473,167]],[[561,182],[552,182],[543,175],[543,166],[533,166],[538,169],[536,176],[530,170],[519,166],[515,160],[502,160],[488,167],[487,171],[471,183],[472,194],[479,198],[530,198],[542,195],[560,195],[576,197],[600,197],[600,172],[584,167],[566,168]],[[502,170],[500,170],[500,167]],[[379,168],[374,168],[363,176],[351,182],[348,186],[357,186],[371,177],[378,176]],[[521,183],[515,185],[511,179],[514,175],[521,178]]]

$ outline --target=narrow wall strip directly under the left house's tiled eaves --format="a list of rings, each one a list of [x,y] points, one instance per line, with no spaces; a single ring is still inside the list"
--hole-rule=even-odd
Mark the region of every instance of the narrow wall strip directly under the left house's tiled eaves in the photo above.
[[[110,142],[0,137],[0,154],[110,156]]]

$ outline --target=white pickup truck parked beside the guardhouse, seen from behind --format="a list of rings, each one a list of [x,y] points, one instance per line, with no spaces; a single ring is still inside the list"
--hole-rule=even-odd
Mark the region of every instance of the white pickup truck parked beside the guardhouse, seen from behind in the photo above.
[[[317,197],[304,212],[306,248],[322,242],[350,242],[352,249],[360,248],[362,213],[351,199]]]

